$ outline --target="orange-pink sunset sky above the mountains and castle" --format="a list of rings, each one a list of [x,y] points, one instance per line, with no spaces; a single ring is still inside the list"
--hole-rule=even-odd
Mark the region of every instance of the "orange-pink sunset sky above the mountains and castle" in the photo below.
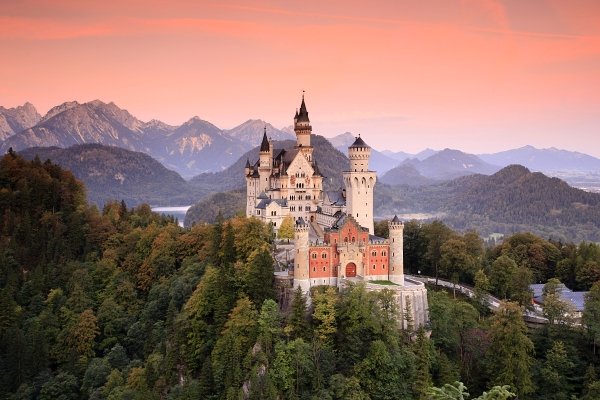
[[[600,1],[0,1],[0,105],[600,157]]]

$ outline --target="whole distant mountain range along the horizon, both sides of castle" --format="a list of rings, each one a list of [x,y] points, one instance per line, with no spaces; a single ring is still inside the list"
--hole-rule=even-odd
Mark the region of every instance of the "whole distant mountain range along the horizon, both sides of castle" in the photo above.
[[[149,154],[185,179],[190,179],[233,165],[240,156],[260,143],[265,128],[273,140],[294,138],[292,127],[277,129],[259,119],[248,120],[232,129],[221,129],[199,117],[193,117],[180,126],[171,126],[157,120],[140,121],[114,103],[100,100],[66,102],[52,108],[43,117],[32,104],[26,103],[16,108],[0,107],[0,151],[6,152],[11,147],[22,150],[27,147],[66,148],[75,144],[101,143]],[[329,140],[345,154],[355,135],[346,132]],[[431,158],[438,153],[441,153],[440,158],[446,159]],[[600,188],[600,182],[596,182],[598,176],[593,176],[590,182],[586,175],[595,171],[600,176],[600,159],[578,152],[526,146],[481,154],[479,159],[474,157],[466,153],[451,154],[449,149],[426,149],[417,154],[373,149],[371,168],[384,182],[421,185],[466,173],[489,174],[494,172],[490,165],[496,166],[497,170],[509,164],[520,164],[533,171],[560,176],[572,184]],[[384,176],[401,163],[405,164],[400,171]],[[402,177],[400,172],[409,172],[414,179]]]

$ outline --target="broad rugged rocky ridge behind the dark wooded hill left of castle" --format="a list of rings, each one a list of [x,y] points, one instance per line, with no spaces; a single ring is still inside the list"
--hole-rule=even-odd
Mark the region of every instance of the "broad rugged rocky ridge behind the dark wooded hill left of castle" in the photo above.
[[[84,143],[147,153],[184,177],[222,170],[251,147],[198,117],[178,127],[156,120],[146,123],[114,103],[94,100],[52,108],[37,124],[6,139],[0,151]]]

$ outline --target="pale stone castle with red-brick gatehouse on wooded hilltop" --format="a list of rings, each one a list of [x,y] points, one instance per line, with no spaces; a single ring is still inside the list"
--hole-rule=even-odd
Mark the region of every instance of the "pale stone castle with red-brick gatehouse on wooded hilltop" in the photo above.
[[[389,239],[374,235],[375,171],[369,170],[371,148],[359,136],[348,148],[349,168],[344,189],[324,191],[323,175],[313,158],[312,127],[304,96],[294,116],[296,145],[274,149],[266,131],[259,160],[246,162],[246,215],[281,227],[295,221],[293,287],[309,293],[313,286],[343,286],[364,281],[367,290],[395,293],[404,325],[427,321],[427,292],[404,276],[404,224],[394,217]],[[410,310],[411,318],[406,312]]]

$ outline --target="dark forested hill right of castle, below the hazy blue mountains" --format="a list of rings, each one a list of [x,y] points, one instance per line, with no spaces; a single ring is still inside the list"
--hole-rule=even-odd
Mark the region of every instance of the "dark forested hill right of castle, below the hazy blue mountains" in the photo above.
[[[476,229],[484,235],[528,230],[564,240],[600,241],[600,194],[518,165],[491,176],[464,176],[430,186],[376,186],[376,215],[404,212],[443,215],[455,229]]]

